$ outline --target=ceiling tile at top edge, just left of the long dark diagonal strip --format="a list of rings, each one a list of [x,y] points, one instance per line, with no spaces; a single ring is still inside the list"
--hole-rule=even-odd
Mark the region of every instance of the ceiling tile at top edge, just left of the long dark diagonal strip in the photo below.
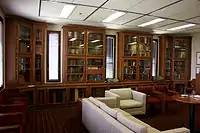
[[[100,6],[105,1],[106,0],[74,0],[73,3],[90,5],[90,6]]]

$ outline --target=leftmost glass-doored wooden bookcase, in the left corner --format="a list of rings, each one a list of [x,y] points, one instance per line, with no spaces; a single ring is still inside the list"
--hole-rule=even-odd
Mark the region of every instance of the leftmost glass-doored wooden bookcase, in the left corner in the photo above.
[[[44,83],[46,24],[19,17],[6,22],[6,84]]]

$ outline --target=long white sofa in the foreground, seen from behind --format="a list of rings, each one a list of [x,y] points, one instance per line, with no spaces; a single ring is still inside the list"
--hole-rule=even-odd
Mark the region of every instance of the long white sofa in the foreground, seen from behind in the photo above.
[[[159,131],[115,107],[112,98],[90,97],[82,100],[82,123],[90,133],[189,133],[187,128]],[[104,103],[103,103],[104,102]],[[107,103],[108,105],[106,105]]]

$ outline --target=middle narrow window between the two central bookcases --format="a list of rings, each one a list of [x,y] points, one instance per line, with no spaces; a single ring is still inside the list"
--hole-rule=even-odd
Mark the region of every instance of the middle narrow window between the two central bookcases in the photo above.
[[[115,78],[115,39],[113,35],[106,37],[106,78]]]

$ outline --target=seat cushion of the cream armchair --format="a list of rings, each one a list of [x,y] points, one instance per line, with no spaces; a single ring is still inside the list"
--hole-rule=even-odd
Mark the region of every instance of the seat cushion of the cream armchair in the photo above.
[[[120,100],[120,108],[121,109],[127,109],[127,108],[139,108],[142,107],[142,103],[138,102],[136,100],[133,99],[129,99],[129,100]]]

